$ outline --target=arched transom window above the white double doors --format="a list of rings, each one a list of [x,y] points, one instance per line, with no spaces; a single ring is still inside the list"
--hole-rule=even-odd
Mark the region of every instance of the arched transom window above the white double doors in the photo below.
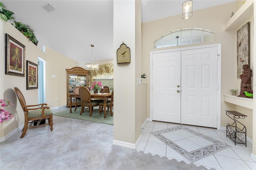
[[[214,32],[210,30],[202,28],[182,28],[158,38],[154,42],[154,48],[213,41]]]

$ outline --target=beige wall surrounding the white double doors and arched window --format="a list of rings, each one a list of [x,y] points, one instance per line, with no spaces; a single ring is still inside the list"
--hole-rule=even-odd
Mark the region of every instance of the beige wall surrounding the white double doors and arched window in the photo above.
[[[142,24],[142,73],[147,74],[147,78],[143,81],[148,83],[148,96],[150,96],[150,51],[159,51],[164,49],[175,49],[189,46],[200,46],[208,44],[221,43],[221,127],[226,127],[227,123],[230,123],[230,118],[226,116],[225,110],[236,109],[235,105],[226,103],[223,101],[223,95],[230,95],[229,88],[240,88],[240,79],[237,78],[237,63],[236,63],[236,31],[225,31],[224,25],[230,19],[231,12],[236,12],[236,2],[206,8],[202,10],[196,10],[193,13],[192,18],[188,20],[182,20],[181,15],[163,18],[152,22],[146,22]],[[253,20],[252,18],[244,21],[251,22],[251,40],[253,40]],[[243,24],[242,24],[243,25]],[[180,28],[204,28],[216,32],[215,41],[208,43],[197,43],[191,45],[179,45],[176,47],[164,47],[154,49],[154,41],[173,30]],[[239,28],[238,28],[239,29]],[[250,63],[253,63],[253,42],[250,43],[251,58]],[[252,69],[252,64],[251,64]],[[239,90],[240,91],[240,90]],[[150,117],[150,98],[147,101],[147,117]],[[248,129],[252,129],[252,110],[250,109],[238,109],[244,114],[248,114],[250,118],[246,119],[245,125]],[[248,136],[252,139],[252,132],[248,130]]]

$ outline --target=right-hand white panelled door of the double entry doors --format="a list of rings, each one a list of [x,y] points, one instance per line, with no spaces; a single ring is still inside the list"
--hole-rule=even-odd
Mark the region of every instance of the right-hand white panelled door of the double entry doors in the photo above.
[[[181,52],[181,123],[217,128],[217,47],[182,50]],[[193,56],[193,59],[191,59]],[[188,59],[189,58],[189,59]],[[193,67],[193,70],[189,68]],[[192,74],[192,75],[189,75]],[[187,86],[190,83],[194,83]],[[193,95],[194,100],[187,96]],[[204,101],[211,99],[211,103]],[[204,105],[204,102],[206,102]],[[190,108],[194,110],[190,110]],[[208,117],[203,116],[204,111]],[[191,113],[192,112],[192,113]]]

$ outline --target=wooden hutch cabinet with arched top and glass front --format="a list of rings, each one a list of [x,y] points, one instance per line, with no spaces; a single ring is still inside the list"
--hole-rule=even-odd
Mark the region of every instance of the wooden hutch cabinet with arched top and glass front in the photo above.
[[[89,80],[89,71],[81,67],[73,67],[71,69],[66,69],[67,72],[67,105],[70,107],[70,93],[73,93],[73,90],[76,86],[84,86],[88,88]],[[72,99],[73,100],[73,99]],[[72,101],[72,106],[75,105]]]

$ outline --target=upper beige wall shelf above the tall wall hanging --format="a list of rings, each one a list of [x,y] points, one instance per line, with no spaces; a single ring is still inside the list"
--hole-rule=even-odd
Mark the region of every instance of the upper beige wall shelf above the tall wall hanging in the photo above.
[[[253,0],[246,0],[225,24],[225,31],[237,29],[250,16],[253,16]]]

